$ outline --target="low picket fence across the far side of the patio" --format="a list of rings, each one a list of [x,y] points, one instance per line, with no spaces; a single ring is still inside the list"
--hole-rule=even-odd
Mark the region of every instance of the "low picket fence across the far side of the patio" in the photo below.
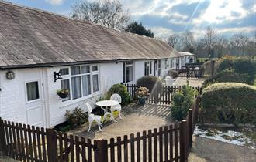
[[[123,83],[124,86],[126,86],[128,93],[133,98],[133,100],[137,100],[137,89],[139,86],[136,84],[126,84]],[[147,87],[147,85],[144,85]],[[155,87],[150,92],[150,96],[147,97],[147,103],[156,103],[156,104],[166,104],[170,105],[173,96],[175,95],[178,90],[182,89],[182,86],[161,86],[161,87]],[[192,89],[197,90],[199,94],[202,93],[202,88],[200,86],[198,87],[192,87]]]

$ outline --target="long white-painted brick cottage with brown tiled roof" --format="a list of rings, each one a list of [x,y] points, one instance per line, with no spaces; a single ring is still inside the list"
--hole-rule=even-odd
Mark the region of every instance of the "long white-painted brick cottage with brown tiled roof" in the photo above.
[[[163,76],[177,56],[156,39],[0,2],[0,116],[53,127],[115,83]],[[62,88],[70,90],[64,100]]]

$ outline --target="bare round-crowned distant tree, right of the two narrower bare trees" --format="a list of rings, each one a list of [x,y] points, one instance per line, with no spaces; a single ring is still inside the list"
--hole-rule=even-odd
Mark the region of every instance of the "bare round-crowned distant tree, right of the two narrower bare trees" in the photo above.
[[[244,56],[244,49],[248,42],[247,35],[244,34],[244,32],[240,32],[237,34],[234,34],[231,38],[231,48],[234,48],[236,51],[242,52],[242,56]]]

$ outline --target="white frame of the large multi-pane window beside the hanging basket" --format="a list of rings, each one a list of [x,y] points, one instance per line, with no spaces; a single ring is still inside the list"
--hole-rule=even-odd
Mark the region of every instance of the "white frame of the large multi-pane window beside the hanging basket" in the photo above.
[[[63,75],[61,76],[62,79],[61,80],[66,80],[68,79],[69,80],[69,93],[70,93],[70,99],[69,100],[61,100],[62,103],[69,103],[69,102],[72,102],[72,101],[80,101],[80,100],[85,100],[85,99],[88,99],[92,96],[95,96],[95,95],[98,95],[99,92],[100,92],[100,82],[99,82],[99,65],[98,64],[85,64],[85,65],[78,65],[80,67],[80,74],[76,74],[76,75],[71,75],[71,67],[75,67],[75,66],[70,66],[70,67],[62,67],[60,69],[67,69],[68,68],[68,75]],[[89,66],[90,68],[90,72],[89,73],[81,73],[81,66]],[[92,66],[97,66],[97,70],[96,71],[92,71]],[[84,92],[83,92],[83,82],[82,82],[82,77],[83,76],[88,76],[90,75],[90,83],[91,83],[91,94],[89,95],[85,95],[84,96]],[[92,83],[92,76],[93,75],[98,75],[98,86],[99,86],[99,90],[96,91],[96,92],[93,92],[93,83]],[[76,77],[76,76],[80,76],[80,79],[81,79],[81,97],[77,98],[77,99],[74,99],[74,96],[73,96],[73,91],[72,91],[72,83],[71,83],[71,78],[73,77]]]

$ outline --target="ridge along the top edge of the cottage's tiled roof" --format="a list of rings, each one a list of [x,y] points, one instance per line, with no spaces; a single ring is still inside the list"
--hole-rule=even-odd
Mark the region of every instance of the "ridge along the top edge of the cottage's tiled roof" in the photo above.
[[[112,29],[112,28],[109,28],[109,27],[106,27],[106,26],[95,24],[93,22],[88,22],[87,20],[81,21],[81,20],[78,20],[78,19],[71,19],[67,15],[61,15],[61,14],[58,14],[58,13],[55,13],[55,12],[48,12],[48,11],[40,9],[40,8],[33,8],[33,7],[28,7],[26,5],[19,5],[19,4],[12,3],[12,2],[6,2],[4,0],[0,0],[0,3],[5,4],[5,5],[12,5],[12,6],[15,6],[15,7],[18,7],[18,8],[25,8],[25,9],[28,9],[28,10],[31,10],[31,11],[35,11],[35,12],[42,12],[42,13],[47,13],[49,15],[59,16],[61,18],[68,19],[68,20],[71,20],[71,21],[74,21],[74,22],[85,23],[85,24],[89,24],[89,25],[97,25],[97,26],[100,26],[100,27],[102,27],[104,29],[111,29],[111,30],[114,30],[116,32],[128,33],[128,34],[131,34],[131,35],[136,35],[136,36],[142,37],[144,39],[154,39],[154,40],[156,40],[158,42],[164,42],[164,41],[162,41],[160,39],[157,39],[157,38],[154,38],[154,37],[152,38],[152,37],[149,37],[149,36],[146,36],[146,35],[138,35],[138,34],[133,33],[133,32],[126,32],[126,31],[121,31],[119,29]]]

